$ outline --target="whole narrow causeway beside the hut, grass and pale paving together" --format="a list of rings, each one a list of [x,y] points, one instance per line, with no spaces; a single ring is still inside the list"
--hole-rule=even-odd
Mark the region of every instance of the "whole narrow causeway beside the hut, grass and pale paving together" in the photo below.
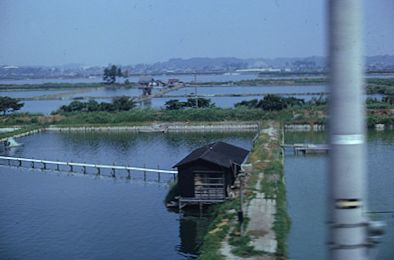
[[[281,131],[277,122],[259,132],[244,165],[244,222],[237,220],[236,196],[216,206],[215,219],[199,259],[284,259],[287,257],[287,213]]]

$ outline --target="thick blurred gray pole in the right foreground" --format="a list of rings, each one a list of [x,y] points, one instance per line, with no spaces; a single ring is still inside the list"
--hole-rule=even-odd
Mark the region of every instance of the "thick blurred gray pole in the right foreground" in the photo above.
[[[367,259],[360,0],[328,0],[330,259]]]

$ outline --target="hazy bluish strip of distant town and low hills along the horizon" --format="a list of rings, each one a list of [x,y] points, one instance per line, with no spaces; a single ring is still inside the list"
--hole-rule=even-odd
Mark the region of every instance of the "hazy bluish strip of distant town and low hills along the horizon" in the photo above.
[[[190,58],[170,59],[154,64],[115,65],[121,67],[126,76],[225,73],[324,74],[326,72],[326,58],[318,56],[275,59]],[[0,79],[97,78],[103,76],[103,70],[107,66],[83,64],[16,66],[0,64]],[[394,55],[369,56],[366,58],[366,68],[368,72],[393,72]]]

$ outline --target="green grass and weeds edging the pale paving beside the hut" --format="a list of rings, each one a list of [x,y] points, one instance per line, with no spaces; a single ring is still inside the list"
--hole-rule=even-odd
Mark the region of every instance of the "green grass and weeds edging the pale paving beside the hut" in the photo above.
[[[279,139],[280,140],[280,139]],[[239,257],[251,257],[256,255],[271,255],[273,258],[283,259],[287,256],[287,235],[290,228],[290,219],[287,213],[286,190],[283,172],[283,154],[280,141],[269,137],[267,133],[261,133],[256,139],[249,163],[252,165],[247,179],[245,201],[246,204],[256,196],[257,192],[265,194],[266,198],[276,200],[276,215],[274,231],[278,242],[277,251],[274,255],[256,250],[251,241],[250,234],[240,235],[240,225],[236,220],[236,211],[239,209],[239,199],[228,200],[214,207],[214,220],[210,231],[204,239],[199,259],[224,259],[220,249],[226,239],[231,245],[231,253]],[[256,191],[258,180],[264,172],[264,178],[260,182],[260,190]],[[244,222],[247,228],[249,219]]]

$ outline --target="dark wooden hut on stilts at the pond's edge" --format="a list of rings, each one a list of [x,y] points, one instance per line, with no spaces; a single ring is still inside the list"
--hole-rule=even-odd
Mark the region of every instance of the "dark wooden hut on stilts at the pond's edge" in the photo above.
[[[248,151],[224,142],[198,148],[178,162],[179,207],[223,201]]]

